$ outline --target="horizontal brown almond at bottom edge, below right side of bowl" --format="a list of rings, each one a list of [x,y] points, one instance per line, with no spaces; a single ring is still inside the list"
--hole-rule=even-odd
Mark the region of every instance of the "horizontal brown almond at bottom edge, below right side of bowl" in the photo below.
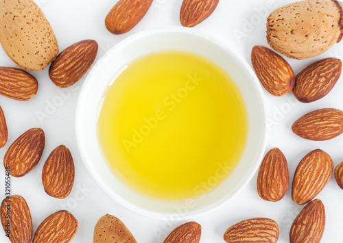
[[[228,243],[275,243],[279,239],[279,225],[269,218],[250,218],[228,228],[224,240]]]

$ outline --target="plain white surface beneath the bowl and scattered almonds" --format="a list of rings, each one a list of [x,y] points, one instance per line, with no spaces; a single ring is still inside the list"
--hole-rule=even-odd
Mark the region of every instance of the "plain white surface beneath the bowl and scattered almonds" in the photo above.
[[[182,0],[154,0],[143,21],[128,34],[114,36],[104,25],[104,18],[117,0],[36,0],[51,23],[62,51],[69,45],[85,39],[99,43],[98,57],[138,31],[154,27],[179,26],[179,12]],[[250,51],[255,44],[267,46],[265,39],[265,19],[272,10],[292,1],[276,0],[221,0],[215,12],[195,29],[219,40],[250,62]],[[295,73],[305,66],[324,57],[343,56],[342,44],[335,44],[327,53],[310,60],[287,61]],[[0,47],[0,66],[15,64]],[[0,97],[0,105],[8,123],[9,138],[5,148],[0,150],[3,159],[8,146],[23,132],[32,127],[42,127],[46,135],[43,157],[32,172],[25,177],[12,178],[12,194],[21,194],[27,201],[34,223],[34,231],[47,216],[60,210],[69,210],[79,222],[78,233],[72,242],[93,242],[93,229],[104,214],[113,214],[126,223],[140,243],[163,242],[176,226],[184,222],[168,219],[155,220],[139,216],[118,205],[100,189],[91,178],[78,153],[75,142],[74,114],[78,93],[84,78],[72,88],[60,89],[50,80],[45,71],[30,72],[39,83],[38,94],[31,101],[14,101]],[[298,138],[291,131],[292,123],[312,110],[334,107],[343,110],[343,77],[335,88],[320,101],[300,103],[292,93],[285,97],[272,97],[265,92],[268,103],[269,138],[267,149],[279,147],[289,163],[291,181],[300,159],[309,151],[323,149],[333,158],[335,166],[343,161],[343,135],[326,142],[313,142]],[[40,116],[38,116],[40,114]],[[43,117],[42,117],[43,116]],[[253,120],[250,122],[254,122]],[[56,146],[65,144],[71,149],[75,162],[75,184],[67,199],[54,199],[45,194],[41,182],[41,172],[45,159]],[[5,193],[5,170],[0,166],[0,195]],[[211,214],[193,218],[202,225],[202,243],[224,242],[223,234],[228,227],[254,217],[272,218],[280,226],[279,242],[289,242],[288,234],[292,221],[302,209],[291,199],[291,190],[278,203],[270,203],[259,198],[256,190],[257,175],[235,199]],[[290,188],[289,188],[290,189]],[[342,242],[343,191],[335,183],[334,177],[318,195],[325,205],[327,225],[322,242]],[[0,242],[9,242],[0,233]]]

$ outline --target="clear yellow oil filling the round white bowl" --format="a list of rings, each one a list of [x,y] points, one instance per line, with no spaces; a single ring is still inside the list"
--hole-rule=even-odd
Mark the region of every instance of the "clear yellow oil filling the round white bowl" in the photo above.
[[[235,82],[195,53],[163,51],[122,68],[99,112],[108,166],[150,198],[188,199],[213,190],[237,166],[248,116]]]

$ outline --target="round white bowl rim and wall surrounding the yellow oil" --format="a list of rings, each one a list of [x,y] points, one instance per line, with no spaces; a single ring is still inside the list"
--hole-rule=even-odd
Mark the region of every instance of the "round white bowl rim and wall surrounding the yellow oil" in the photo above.
[[[102,95],[111,79],[123,66],[137,57],[165,49],[191,51],[219,64],[233,77],[248,110],[248,141],[238,166],[211,192],[185,201],[158,201],[130,190],[108,168],[97,141],[99,103],[102,102]],[[117,203],[145,216],[185,220],[220,207],[252,179],[265,150],[265,101],[255,73],[233,51],[193,29],[152,29],[121,41],[95,64],[80,92],[75,127],[78,147],[86,168],[99,186]]]

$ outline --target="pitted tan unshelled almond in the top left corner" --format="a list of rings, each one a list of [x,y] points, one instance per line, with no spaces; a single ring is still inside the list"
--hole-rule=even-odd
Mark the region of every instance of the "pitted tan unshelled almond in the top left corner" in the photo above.
[[[0,42],[20,68],[40,71],[55,60],[56,36],[34,1],[1,0],[0,16]]]

